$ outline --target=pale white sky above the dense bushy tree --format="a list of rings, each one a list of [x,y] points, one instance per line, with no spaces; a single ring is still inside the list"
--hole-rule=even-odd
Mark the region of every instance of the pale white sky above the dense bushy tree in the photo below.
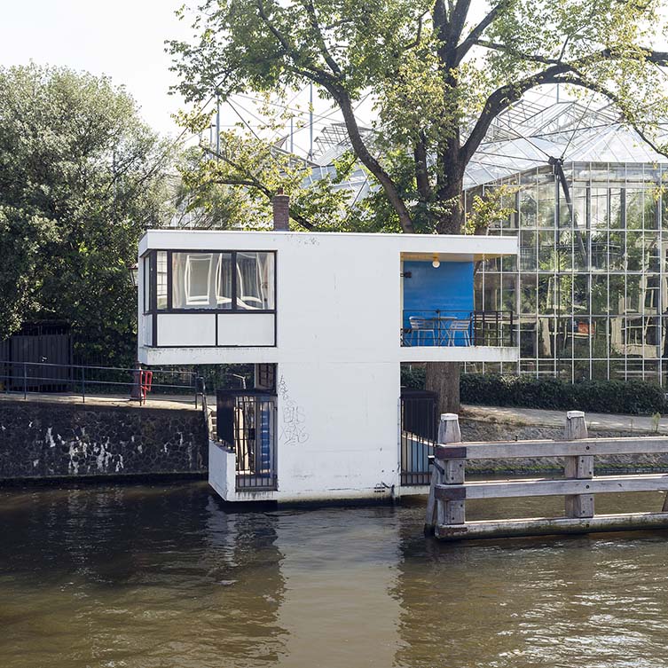
[[[0,0],[0,65],[58,65],[123,84],[155,130],[176,135],[183,105],[164,41],[185,38],[174,11],[183,0]]]

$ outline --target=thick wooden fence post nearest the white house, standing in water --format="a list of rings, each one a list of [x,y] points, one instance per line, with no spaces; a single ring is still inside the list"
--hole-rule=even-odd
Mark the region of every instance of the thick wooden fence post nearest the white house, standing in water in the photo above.
[[[443,413],[438,423],[438,444],[461,443],[460,416]],[[466,521],[464,501],[436,500],[437,484],[463,484],[466,460],[433,460],[425,533],[432,533],[436,524],[463,524]]]

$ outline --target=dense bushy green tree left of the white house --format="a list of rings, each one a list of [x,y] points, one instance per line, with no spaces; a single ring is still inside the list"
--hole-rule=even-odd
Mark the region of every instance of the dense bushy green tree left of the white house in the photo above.
[[[168,199],[168,146],[106,78],[0,68],[0,338],[67,321],[84,357],[134,357],[129,267]]]

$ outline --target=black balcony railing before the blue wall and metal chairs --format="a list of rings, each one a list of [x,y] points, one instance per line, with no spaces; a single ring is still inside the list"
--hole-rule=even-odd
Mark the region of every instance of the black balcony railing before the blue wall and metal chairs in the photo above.
[[[404,310],[402,346],[514,346],[512,310]]]

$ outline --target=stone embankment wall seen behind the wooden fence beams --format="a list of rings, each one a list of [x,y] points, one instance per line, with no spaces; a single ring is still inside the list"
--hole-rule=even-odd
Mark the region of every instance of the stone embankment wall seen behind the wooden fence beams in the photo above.
[[[563,438],[562,427],[543,427],[512,422],[460,419],[461,440],[475,441],[526,441]],[[653,433],[622,431],[613,429],[589,429],[592,438],[615,438],[621,436],[656,436]],[[607,455],[594,458],[596,472],[636,472],[639,470],[668,471],[668,453],[647,455]],[[485,473],[519,474],[529,471],[562,471],[563,458],[541,457],[522,460],[472,460],[467,470]]]

